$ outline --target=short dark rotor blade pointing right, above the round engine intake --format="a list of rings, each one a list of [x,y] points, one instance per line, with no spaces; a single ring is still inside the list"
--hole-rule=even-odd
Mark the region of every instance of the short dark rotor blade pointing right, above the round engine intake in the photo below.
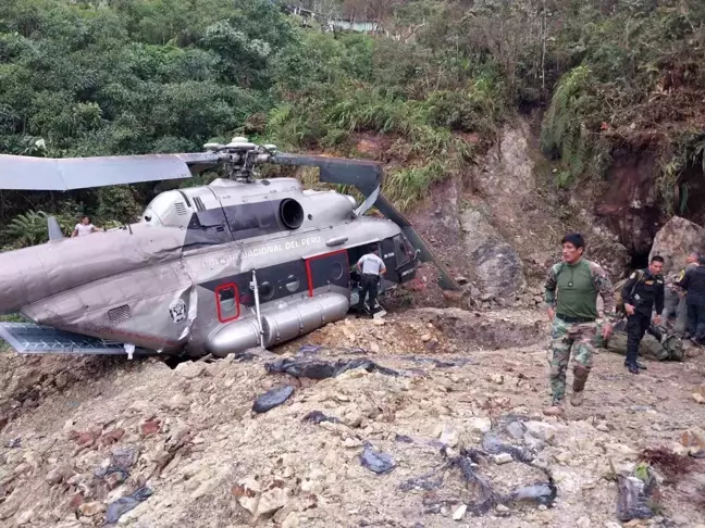
[[[270,160],[280,165],[320,167],[320,180],[325,184],[352,185],[371,193],[382,185],[382,165],[367,160],[345,160],[324,155],[276,154]]]

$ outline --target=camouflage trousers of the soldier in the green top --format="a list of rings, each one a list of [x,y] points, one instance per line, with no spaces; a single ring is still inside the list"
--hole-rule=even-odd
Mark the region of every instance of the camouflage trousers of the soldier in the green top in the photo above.
[[[566,397],[566,373],[571,351],[573,391],[580,392],[585,388],[595,352],[596,331],[596,323],[566,323],[558,317],[554,319],[551,327],[551,349],[548,351],[548,365],[551,366],[548,380],[554,403],[560,403]]]

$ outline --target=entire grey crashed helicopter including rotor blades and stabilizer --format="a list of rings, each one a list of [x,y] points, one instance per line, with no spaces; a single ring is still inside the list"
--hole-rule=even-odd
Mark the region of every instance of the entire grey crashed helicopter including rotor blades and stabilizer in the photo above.
[[[359,205],[296,178],[260,178],[263,164],[318,167],[322,183],[355,187]],[[344,318],[356,303],[355,264],[376,244],[387,268],[380,292],[433,262],[411,223],[380,192],[379,163],[279,152],[247,138],[205,152],[47,159],[0,155],[0,189],[70,190],[227,177],[165,190],[139,222],[0,253],[0,337],[20,354],[176,354],[223,357],[270,348]],[[372,208],[384,217],[366,215]],[[382,311],[366,304],[369,315]]]

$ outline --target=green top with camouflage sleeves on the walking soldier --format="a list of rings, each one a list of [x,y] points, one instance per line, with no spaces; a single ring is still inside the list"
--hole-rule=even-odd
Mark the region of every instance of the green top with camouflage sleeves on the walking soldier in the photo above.
[[[599,265],[582,259],[574,265],[559,262],[551,267],[545,282],[545,303],[558,313],[597,318],[597,294],[603,298],[605,317],[614,320],[615,290]],[[562,292],[562,294],[561,294]]]

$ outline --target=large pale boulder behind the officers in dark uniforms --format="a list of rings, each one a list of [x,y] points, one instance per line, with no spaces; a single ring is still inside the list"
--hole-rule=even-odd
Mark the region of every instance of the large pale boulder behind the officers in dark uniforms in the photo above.
[[[664,273],[685,267],[691,251],[705,253],[705,229],[691,221],[673,216],[656,234],[648,260],[664,257]]]

